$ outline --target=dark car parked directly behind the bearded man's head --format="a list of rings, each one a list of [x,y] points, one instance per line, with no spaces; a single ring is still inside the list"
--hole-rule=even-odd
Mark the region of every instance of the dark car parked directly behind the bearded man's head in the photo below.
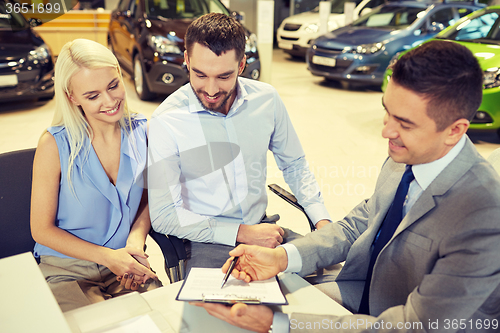
[[[219,0],[120,0],[111,13],[108,45],[133,75],[140,99],[171,94],[189,81],[184,35],[194,19],[210,12],[233,15]],[[257,38],[248,30],[245,53],[247,67],[242,76],[258,79]]]

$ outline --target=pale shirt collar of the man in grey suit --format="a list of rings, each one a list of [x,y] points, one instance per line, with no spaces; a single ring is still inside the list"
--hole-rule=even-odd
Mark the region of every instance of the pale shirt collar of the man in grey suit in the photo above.
[[[416,164],[412,166],[413,174],[415,175],[415,180],[418,185],[422,188],[422,191],[432,183],[434,179],[441,173],[457,157],[462,148],[465,145],[466,136],[463,135],[458,143],[451,148],[448,154],[444,155],[438,160],[432,161],[430,163]]]

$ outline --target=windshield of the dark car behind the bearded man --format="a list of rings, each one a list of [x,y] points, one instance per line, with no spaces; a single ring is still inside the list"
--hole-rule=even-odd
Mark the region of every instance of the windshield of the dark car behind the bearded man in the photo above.
[[[207,13],[223,13],[228,10],[219,1],[213,0],[146,0],[146,14],[166,19],[198,17]]]

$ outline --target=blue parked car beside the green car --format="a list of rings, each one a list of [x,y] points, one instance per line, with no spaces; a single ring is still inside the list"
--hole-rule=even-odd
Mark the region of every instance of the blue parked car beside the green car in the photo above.
[[[434,37],[461,17],[484,8],[477,2],[391,2],[352,25],[316,39],[308,50],[312,74],[329,80],[380,86],[391,58]]]

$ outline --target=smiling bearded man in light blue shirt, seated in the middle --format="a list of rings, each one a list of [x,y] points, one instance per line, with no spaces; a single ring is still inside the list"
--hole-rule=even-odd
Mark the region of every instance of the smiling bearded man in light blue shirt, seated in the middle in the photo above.
[[[267,206],[267,151],[321,228],[329,223],[319,186],[276,90],[241,78],[245,32],[207,14],[185,37],[190,82],[154,112],[149,136],[153,228],[191,240],[190,267],[220,267],[237,244],[274,248],[281,227],[261,223]]]

